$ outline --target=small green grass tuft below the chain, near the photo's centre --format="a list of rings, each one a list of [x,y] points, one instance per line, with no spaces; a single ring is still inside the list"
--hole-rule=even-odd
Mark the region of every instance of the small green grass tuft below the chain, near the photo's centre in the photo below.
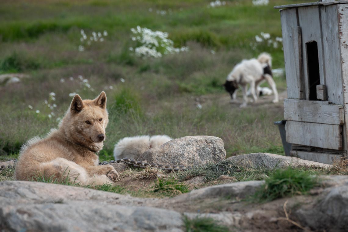
[[[180,195],[182,193],[190,192],[187,185],[179,183],[175,179],[161,179],[157,178],[157,181],[152,186],[153,192],[161,193],[168,197],[173,197],[176,195]]]

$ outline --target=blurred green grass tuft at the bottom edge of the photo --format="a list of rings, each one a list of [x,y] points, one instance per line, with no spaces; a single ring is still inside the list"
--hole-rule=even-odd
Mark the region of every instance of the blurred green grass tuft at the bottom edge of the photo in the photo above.
[[[184,216],[184,226],[187,232],[228,232],[227,226],[220,225],[219,222],[209,217],[196,217],[189,219]]]

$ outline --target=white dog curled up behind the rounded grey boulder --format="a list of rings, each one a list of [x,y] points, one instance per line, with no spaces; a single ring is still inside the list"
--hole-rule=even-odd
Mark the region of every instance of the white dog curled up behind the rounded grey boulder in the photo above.
[[[120,139],[113,150],[115,160],[122,158],[138,159],[142,153],[152,147],[158,147],[172,138],[167,135],[140,135],[133,137],[125,137]]]

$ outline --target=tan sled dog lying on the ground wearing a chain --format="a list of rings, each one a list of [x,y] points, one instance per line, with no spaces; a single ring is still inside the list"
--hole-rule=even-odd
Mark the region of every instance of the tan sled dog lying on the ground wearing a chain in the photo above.
[[[118,178],[111,165],[98,166],[95,152],[103,148],[108,124],[106,95],[82,100],[76,94],[69,110],[45,138],[34,137],[21,148],[16,164],[18,180],[36,177],[64,180],[82,185],[110,184]]]

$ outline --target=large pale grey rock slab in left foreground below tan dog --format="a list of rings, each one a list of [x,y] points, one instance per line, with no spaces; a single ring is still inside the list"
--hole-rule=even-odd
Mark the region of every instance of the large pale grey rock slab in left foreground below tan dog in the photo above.
[[[182,215],[132,198],[82,187],[0,183],[2,231],[182,231]],[[144,206],[139,204],[141,202]]]

